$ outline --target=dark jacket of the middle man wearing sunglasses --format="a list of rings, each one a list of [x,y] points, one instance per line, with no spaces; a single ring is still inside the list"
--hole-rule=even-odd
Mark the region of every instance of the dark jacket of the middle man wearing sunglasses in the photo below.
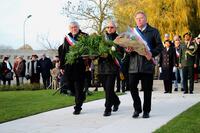
[[[117,36],[117,33],[106,33],[106,37],[108,40],[113,41]],[[122,52],[122,48],[117,46],[117,51]],[[117,74],[117,72],[119,71],[119,66],[115,64],[115,61],[110,54],[108,54],[108,57],[106,58],[100,57],[98,64],[99,74]]]

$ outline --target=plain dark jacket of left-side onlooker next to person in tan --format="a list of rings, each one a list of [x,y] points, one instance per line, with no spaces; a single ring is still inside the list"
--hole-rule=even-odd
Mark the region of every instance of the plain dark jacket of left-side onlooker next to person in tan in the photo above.
[[[45,57],[44,59],[41,58],[39,60],[40,62],[40,70],[43,78],[49,78],[51,76],[50,70],[53,68],[53,64],[51,62],[51,59]]]

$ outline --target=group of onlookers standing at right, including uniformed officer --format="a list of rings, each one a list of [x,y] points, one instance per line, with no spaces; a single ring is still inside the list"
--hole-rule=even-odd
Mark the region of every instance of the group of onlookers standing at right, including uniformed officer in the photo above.
[[[165,48],[160,54],[158,63],[160,79],[164,83],[164,93],[172,93],[172,83],[174,91],[178,91],[180,82],[180,90],[184,91],[184,94],[193,94],[194,82],[198,82],[199,43],[200,35],[192,38],[190,32],[185,33],[183,39],[175,35],[172,41],[169,40],[169,34],[165,35]]]

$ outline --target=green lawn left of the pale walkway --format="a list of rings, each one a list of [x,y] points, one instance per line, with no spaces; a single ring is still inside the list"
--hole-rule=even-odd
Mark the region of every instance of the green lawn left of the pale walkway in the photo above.
[[[37,113],[74,105],[74,97],[55,90],[0,91],[0,123]],[[86,101],[104,98],[104,92],[94,92]],[[103,105],[102,105],[103,106]]]

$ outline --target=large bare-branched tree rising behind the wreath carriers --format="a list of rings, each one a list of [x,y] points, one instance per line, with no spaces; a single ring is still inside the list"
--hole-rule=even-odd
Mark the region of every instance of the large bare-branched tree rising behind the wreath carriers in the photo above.
[[[102,34],[104,21],[113,18],[112,6],[114,0],[87,0],[80,1],[78,5],[67,1],[62,14],[77,20],[87,20],[86,28]]]

